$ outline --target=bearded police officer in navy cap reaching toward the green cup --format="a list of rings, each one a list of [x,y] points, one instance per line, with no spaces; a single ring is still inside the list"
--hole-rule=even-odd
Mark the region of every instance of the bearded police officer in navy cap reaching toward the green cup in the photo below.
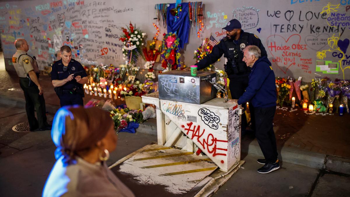
[[[247,68],[243,62],[243,49],[248,45],[258,46],[261,50],[261,56],[266,56],[267,53],[262,46],[259,37],[252,33],[244,32],[241,29],[241,23],[237,19],[232,19],[227,23],[226,37],[224,37],[217,45],[215,45],[210,54],[205,56],[203,60],[196,63],[198,70],[215,63],[223,54],[227,58],[227,63],[224,65],[225,72],[230,79],[230,91],[232,99],[239,99],[243,95],[248,86],[248,76],[250,69]],[[253,116],[253,109],[250,108],[251,117]],[[252,122],[254,122],[252,120]],[[247,126],[245,114],[242,115],[242,132],[245,132]],[[254,130],[254,125],[253,125]]]

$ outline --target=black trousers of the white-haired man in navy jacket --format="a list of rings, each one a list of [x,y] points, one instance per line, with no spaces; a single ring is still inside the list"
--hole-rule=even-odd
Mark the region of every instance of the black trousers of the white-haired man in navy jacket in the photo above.
[[[273,131],[273,117],[276,107],[254,108],[255,113],[255,137],[259,143],[262,154],[267,162],[274,163],[277,160],[276,137]]]

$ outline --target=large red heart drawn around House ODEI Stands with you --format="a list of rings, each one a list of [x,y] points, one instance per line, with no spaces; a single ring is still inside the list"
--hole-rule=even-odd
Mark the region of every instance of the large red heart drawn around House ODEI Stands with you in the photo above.
[[[280,35],[270,35],[270,36],[268,36],[267,39],[266,39],[266,40],[267,40],[267,41],[266,41],[266,46],[267,46],[269,52],[271,53],[271,55],[272,55],[273,57],[279,56],[279,54],[276,54],[276,53],[277,53],[277,52],[276,52],[276,49],[275,49],[275,52],[273,52],[273,47],[275,47],[275,46],[281,47],[281,48],[284,48],[284,47],[285,47],[285,48],[284,48],[285,50],[281,50],[281,51],[287,51],[287,50],[288,50],[288,49],[287,49],[288,45],[286,45],[286,43],[287,43],[288,41],[290,41],[290,38],[292,38],[293,36],[296,36],[296,37],[297,37],[297,42],[293,42],[293,43],[296,43],[296,44],[299,45],[300,40],[301,40],[301,36],[300,36],[299,34],[293,34],[293,35],[289,36],[289,38],[288,38],[287,40],[286,40],[283,36],[280,36]],[[282,38],[282,39],[284,40],[284,42],[282,42],[282,43],[275,43],[275,40],[274,40],[275,46],[272,46],[272,41],[271,41],[271,39],[275,39],[276,37]],[[271,38],[271,39],[270,39],[270,38]],[[271,42],[271,46],[268,45],[269,42]],[[289,50],[295,50],[295,49],[292,49],[292,47],[291,47],[293,43],[290,43]],[[287,70],[289,69],[290,66],[295,65],[295,62],[289,63],[289,66],[288,66],[285,70],[283,70],[283,69],[280,67],[280,65],[278,64],[278,62],[274,62],[274,63],[277,65],[277,67],[278,67],[284,74],[287,73]]]

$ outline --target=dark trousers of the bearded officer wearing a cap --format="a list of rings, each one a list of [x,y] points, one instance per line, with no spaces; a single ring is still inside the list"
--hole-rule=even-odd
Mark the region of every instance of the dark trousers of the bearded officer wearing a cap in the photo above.
[[[230,87],[232,99],[239,99],[239,97],[243,95],[243,93],[245,92],[245,89],[248,87],[248,82],[249,82],[248,76],[230,78],[229,87]],[[242,107],[244,107],[245,109],[246,104],[242,104]],[[245,113],[242,114],[241,120],[242,120],[241,122],[242,134],[244,134],[245,129],[247,127],[247,118],[245,116]],[[252,122],[252,125],[253,125],[253,122]]]

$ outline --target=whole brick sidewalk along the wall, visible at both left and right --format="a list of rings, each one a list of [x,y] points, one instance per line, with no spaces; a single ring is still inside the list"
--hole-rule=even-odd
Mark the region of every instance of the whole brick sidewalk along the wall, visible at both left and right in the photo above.
[[[22,98],[23,91],[19,86],[18,77],[0,70],[0,94]],[[40,82],[44,89],[46,104],[59,106],[58,97],[54,91],[49,76],[40,76]],[[84,103],[94,98],[86,95]],[[95,99],[104,99],[95,97]],[[124,103],[118,100],[116,104]],[[292,147],[327,155],[335,155],[350,158],[350,115],[339,116],[305,114],[301,108],[290,112],[277,109],[274,118],[274,131],[278,147]],[[247,140],[245,137],[243,140]],[[249,140],[249,139],[248,139]]]

